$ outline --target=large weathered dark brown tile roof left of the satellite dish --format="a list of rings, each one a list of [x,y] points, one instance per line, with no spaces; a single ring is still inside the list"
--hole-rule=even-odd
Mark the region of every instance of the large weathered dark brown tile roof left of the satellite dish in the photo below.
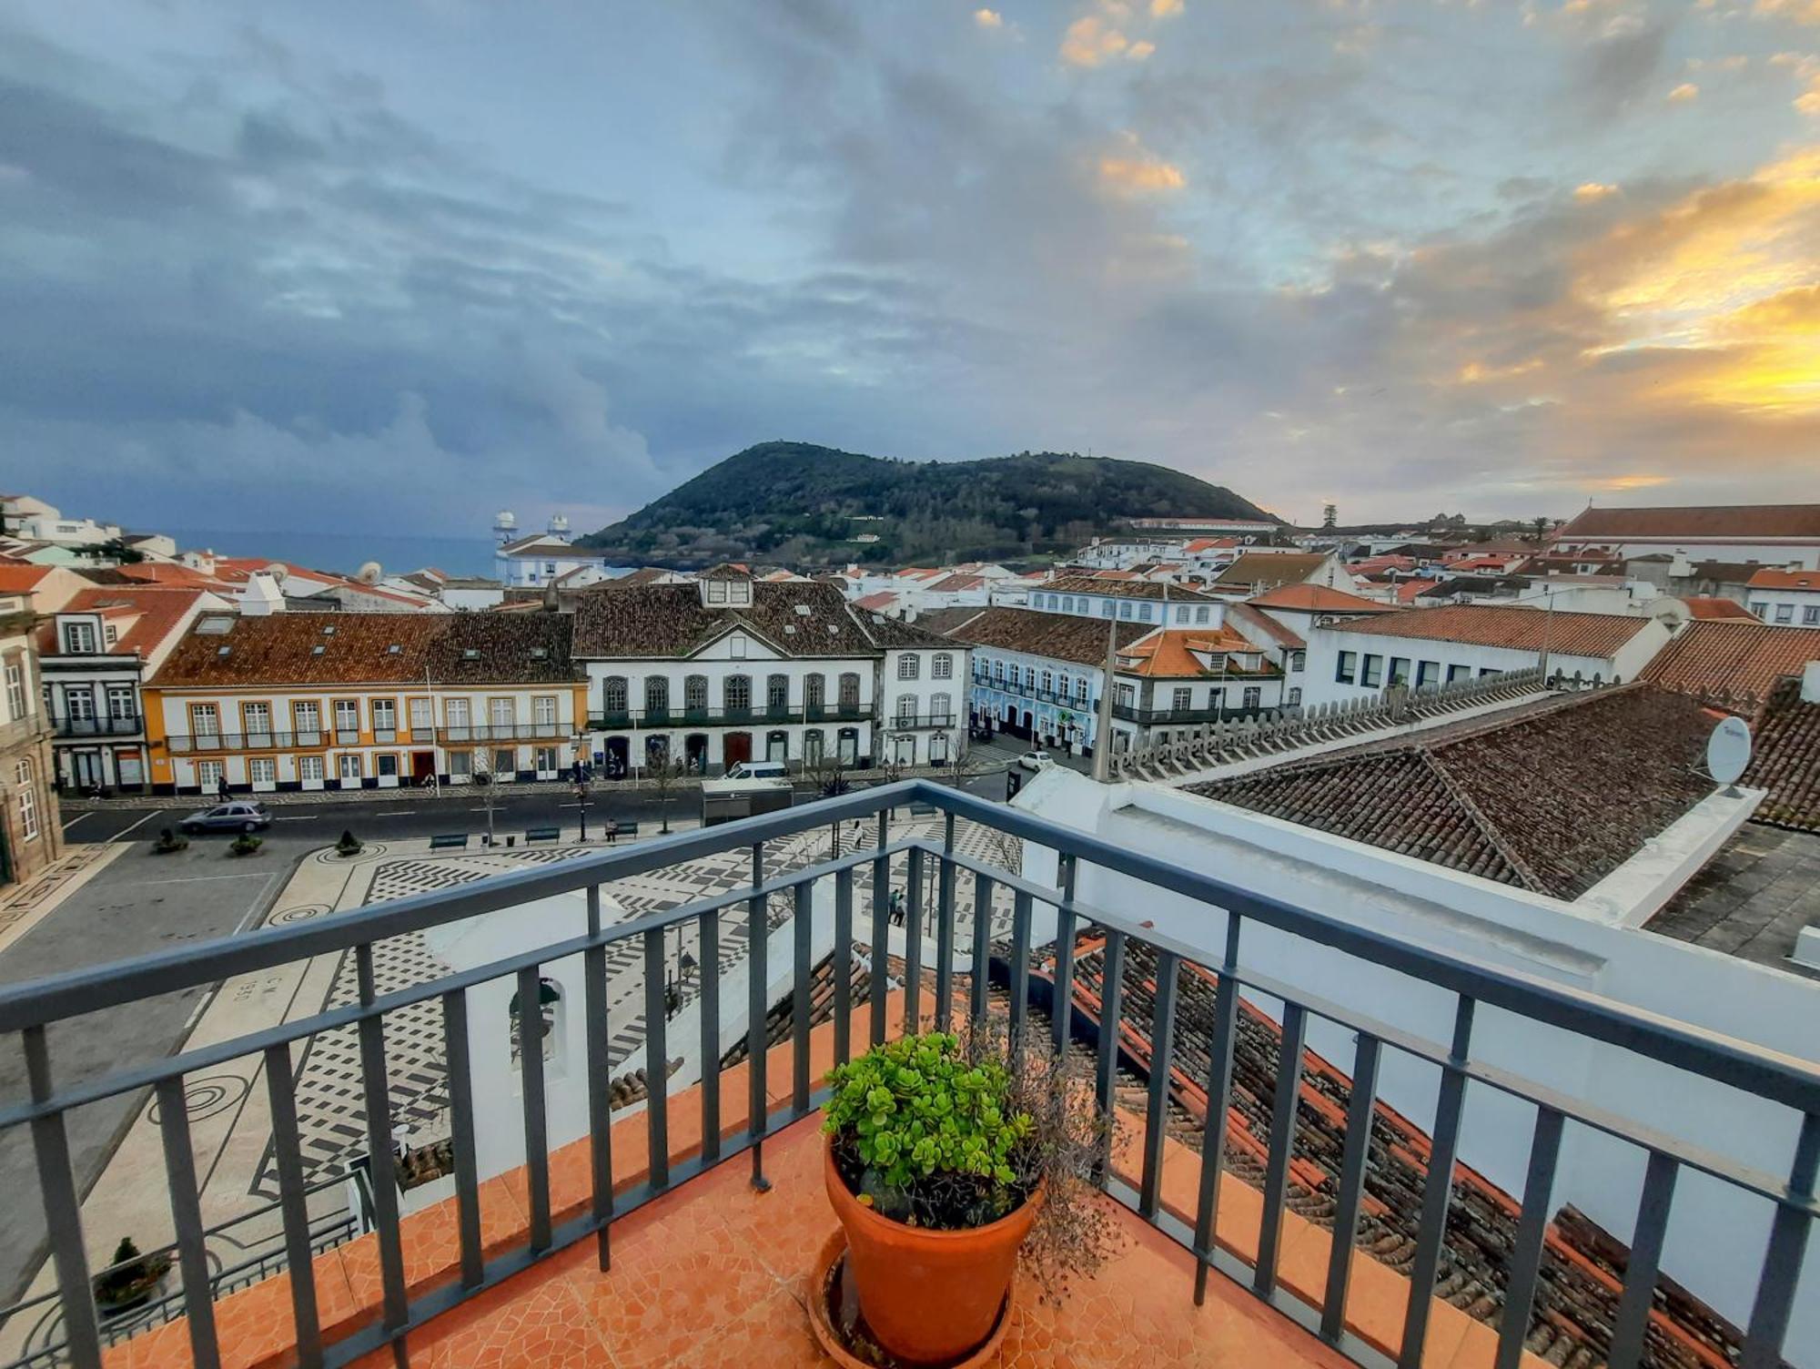
[[[1356,748],[1190,788],[1576,899],[1713,790],[1698,774],[1713,725],[1696,699],[1631,684],[1443,739]]]

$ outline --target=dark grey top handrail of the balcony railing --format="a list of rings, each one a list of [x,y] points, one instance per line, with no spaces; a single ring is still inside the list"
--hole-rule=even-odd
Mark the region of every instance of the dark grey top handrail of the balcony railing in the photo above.
[[[215,983],[235,974],[266,970],[311,956],[342,952],[362,943],[420,932],[440,923],[473,918],[502,907],[626,879],[730,848],[826,828],[834,823],[866,817],[881,808],[906,806],[914,801],[928,803],[956,817],[968,817],[985,826],[1072,856],[1077,861],[1130,876],[1199,903],[1225,908],[1239,918],[1332,947],[1358,959],[1409,974],[1463,998],[1634,1050],[1676,1069],[1756,1092],[1802,1112],[1820,1114],[1820,1067],[1809,1061],[1636,1009],[1591,990],[1489,965],[1469,956],[1431,950],[1327,914],[1252,894],[1212,876],[1170,865],[1156,856],[1128,850],[1048,819],[1034,817],[1019,808],[981,799],[928,779],[905,779],[895,785],[855,790],[775,814],[746,817],[695,832],[675,832],[639,843],[637,847],[602,850],[570,861],[515,870],[453,890],[435,890],[349,910],[337,918],[258,928],[240,936],[215,938],[213,941],[182,950],[138,956],[111,965],[51,976],[35,983],[13,985],[0,989],[0,1030],[24,1030],[106,1007],[118,1007],[151,994]],[[948,856],[957,865],[974,867],[959,852],[950,852]],[[1061,899],[1057,890],[1032,887],[1032,892],[1045,901]],[[1156,928],[1123,927],[1123,919],[1110,914],[1107,918],[1116,928],[1127,930],[1130,936],[1159,950],[1199,963],[1219,963],[1219,956],[1207,947],[1183,943]]]

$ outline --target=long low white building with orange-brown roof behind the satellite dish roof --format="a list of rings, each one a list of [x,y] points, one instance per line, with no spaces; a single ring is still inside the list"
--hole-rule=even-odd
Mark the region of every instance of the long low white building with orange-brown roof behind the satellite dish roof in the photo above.
[[[1687,623],[1678,601],[1662,604],[1653,617],[1445,604],[1316,626],[1303,703],[1376,697],[1398,679],[1427,688],[1543,663],[1549,675],[1591,684],[1634,679]]]

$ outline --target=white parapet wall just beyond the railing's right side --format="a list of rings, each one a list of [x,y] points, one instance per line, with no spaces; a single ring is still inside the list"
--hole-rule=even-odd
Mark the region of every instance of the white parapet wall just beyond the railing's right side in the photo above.
[[[1127,850],[1431,950],[1596,992],[1791,1058],[1820,1054],[1820,983],[1636,930],[1622,919],[1587,916],[1576,905],[1159,785],[1094,785],[1052,770],[1016,803]],[[1709,817],[1725,826],[1734,814],[1736,808]],[[1025,850],[1025,876],[1054,883],[1054,856],[1028,843]],[[1662,883],[1663,872],[1656,874]],[[1638,874],[1638,887],[1643,883]],[[1216,907],[1085,863],[1076,890],[1085,905],[1148,921],[1201,948],[1208,965],[1223,956],[1227,914]],[[1434,1043],[1451,1038],[1454,996],[1421,979],[1256,921],[1243,928],[1239,961],[1247,970],[1296,985],[1347,1012]],[[1258,1007],[1279,1010],[1261,996]],[[1310,1027],[1309,1047],[1341,1069],[1352,1060],[1352,1034],[1323,1019]],[[1483,1007],[1472,1056],[1765,1174],[1789,1172],[1800,1118],[1729,1085]],[[1380,1098],[1431,1127],[1438,1078],[1434,1067],[1387,1050]],[[1529,1103],[1471,1083],[1460,1158],[1507,1192],[1522,1192],[1532,1125]],[[1620,1240],[1629,1240],[1643,1165],[1645,1156],[1636,1147],[1571,1123],[1552,1207],[1574,1203]],[[1663,1273],[1733,1322],[1745,1323],[1769,1218],[1765,1200],[1684,1169]],[[1800,1287],[1785,1354],[1793,1364],[1813,1367],[1820,1365],[1820,1296],[1813,1296],[1820,1289],[1820,1242],[1809,1243]]]

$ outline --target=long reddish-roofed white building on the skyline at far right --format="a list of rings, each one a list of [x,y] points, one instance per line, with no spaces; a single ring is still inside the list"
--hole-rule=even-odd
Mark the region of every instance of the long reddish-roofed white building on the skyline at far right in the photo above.
[[[1820,570],[1820,504],[1589,508],[1556,528],[1551,546],[1556,553],[1605,552],[1622,559],[1669,552]]]

